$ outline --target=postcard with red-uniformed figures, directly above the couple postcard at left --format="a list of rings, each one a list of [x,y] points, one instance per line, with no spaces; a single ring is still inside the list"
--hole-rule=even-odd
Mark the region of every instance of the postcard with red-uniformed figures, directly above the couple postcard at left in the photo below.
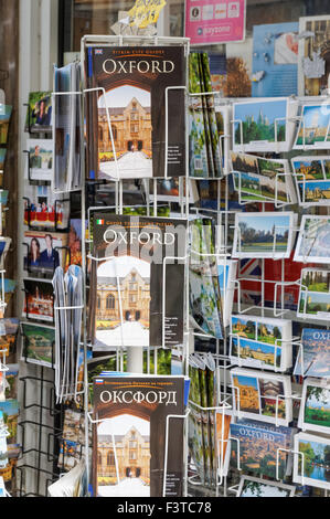
[[[25,186],[24,224],[35,229],[66,230],[70,200],[56,197],[51,186]]]

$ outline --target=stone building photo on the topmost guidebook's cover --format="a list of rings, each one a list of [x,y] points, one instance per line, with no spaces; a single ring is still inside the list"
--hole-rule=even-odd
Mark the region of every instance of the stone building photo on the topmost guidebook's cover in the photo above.
[[[109,131],[110,118],[114,147]],[[123,85],[107,92],[98,103],[99,171],[120,178],[152,177],[152,126],[150,93]]]

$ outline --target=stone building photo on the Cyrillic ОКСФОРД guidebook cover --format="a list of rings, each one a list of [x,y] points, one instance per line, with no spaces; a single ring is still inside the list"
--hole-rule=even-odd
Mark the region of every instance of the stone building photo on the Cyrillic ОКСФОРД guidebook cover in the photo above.
[[[100,496],[150,496],[149,421],[123,414],[100,423],[97,483]]]

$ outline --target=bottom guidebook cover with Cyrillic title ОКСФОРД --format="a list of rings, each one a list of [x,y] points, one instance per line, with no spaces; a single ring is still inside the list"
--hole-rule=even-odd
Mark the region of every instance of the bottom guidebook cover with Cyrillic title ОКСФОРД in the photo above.
[[[166,432],[166,496],[182,496],[184,377],[94,379],[95,496],[161,497]]]

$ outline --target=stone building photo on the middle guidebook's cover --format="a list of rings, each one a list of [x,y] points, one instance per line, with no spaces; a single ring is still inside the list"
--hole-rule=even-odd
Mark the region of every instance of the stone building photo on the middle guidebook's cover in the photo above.
[[[107,346],[120,346],[124,338],[126,345],[148,346],[149,307],[149,263],[132,256],[121,256],[99,265],[96,300],[96,339],[98,341]]]

